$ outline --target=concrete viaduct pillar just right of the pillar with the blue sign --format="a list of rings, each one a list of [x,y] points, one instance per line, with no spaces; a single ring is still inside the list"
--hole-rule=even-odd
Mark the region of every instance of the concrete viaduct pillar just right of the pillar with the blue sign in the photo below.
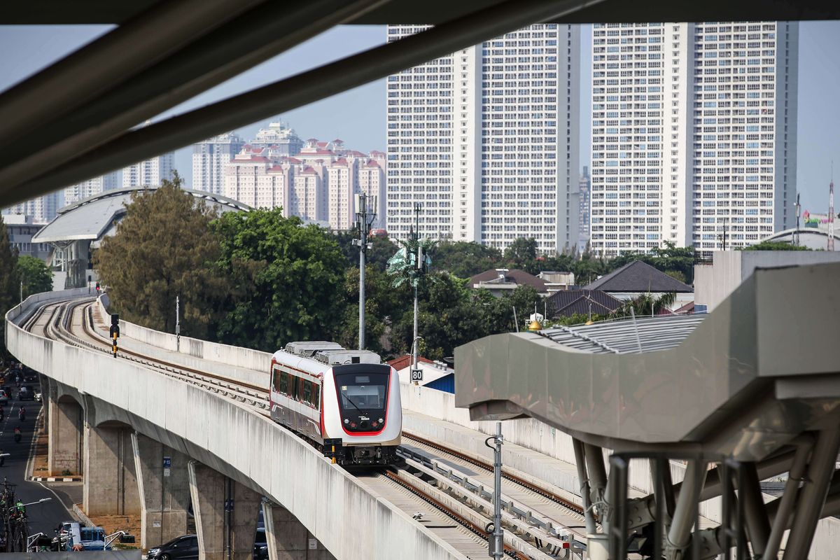
[[[252,560],[260,495],[196,461],[189,474],[198,559]]]

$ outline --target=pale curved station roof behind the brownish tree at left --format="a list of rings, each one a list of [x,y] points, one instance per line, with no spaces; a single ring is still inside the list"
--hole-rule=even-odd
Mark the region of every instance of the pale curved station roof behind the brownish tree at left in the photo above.
[[[58,243],[89,239],[97,241],[110,234],[116,223],[125,215],[125,206],[131,202],[136,191],[154,191],[157,186],[133,187],[106,191],[75,204],[63,207],[52,222],[48,223],[32,238],[33,243]],[[221,212],[248,212],[251,208],[227,196],[214,195],[205,191],[184,189],[196,198],[216,207]]]

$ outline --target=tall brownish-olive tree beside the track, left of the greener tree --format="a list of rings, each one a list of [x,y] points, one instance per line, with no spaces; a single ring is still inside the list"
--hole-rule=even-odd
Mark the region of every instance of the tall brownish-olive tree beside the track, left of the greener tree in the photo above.
[[[181,178],[131,197],[117,233],[102,241],[94,262],[124,319],[164,332],[213,337],[228,298],[228,281],[213,269],[219,246],[209,229],[216,212],[182,191]]]

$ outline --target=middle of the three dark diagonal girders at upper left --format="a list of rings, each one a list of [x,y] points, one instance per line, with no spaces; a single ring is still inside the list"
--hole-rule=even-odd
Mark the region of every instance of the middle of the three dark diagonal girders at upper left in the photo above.
[[[135,124],[384,1],[314,0],[291,8],[285,3],[261,4],[150,68],[137,69],[134,76],[56,118],[38,134],[16,137],[15,143],[0,154],[0,184],[42,175]],[[107,40],[108,36],[98,39]]]

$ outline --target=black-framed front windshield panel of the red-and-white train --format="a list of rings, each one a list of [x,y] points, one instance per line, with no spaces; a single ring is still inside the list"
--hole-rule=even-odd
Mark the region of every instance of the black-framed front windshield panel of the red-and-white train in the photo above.
[[[335,374],[339,407],[344,430],[370,432],[381,430],[386,416],[390,369],[370,371],[359,366],[344,366],[355,371]]]

